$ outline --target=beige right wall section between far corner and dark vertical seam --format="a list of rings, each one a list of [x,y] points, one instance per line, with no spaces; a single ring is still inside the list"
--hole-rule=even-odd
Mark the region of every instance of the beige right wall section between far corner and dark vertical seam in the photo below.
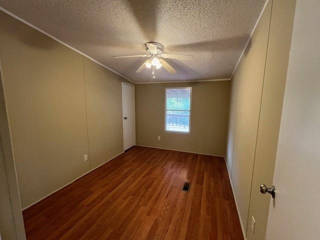
[[[234,196],[245,232],[256,134],[259,120],[266,48],[271,16],[271,1],[266,6],[245,52],[231,79],[231,112],[227,165]]]

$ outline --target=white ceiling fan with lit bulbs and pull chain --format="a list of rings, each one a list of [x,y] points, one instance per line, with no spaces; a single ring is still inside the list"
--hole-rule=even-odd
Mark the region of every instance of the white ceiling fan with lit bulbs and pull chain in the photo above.
[[[153,79],[155,78],[154,71],[155,69],[159,69],[161,66],[171,74],[175,74],[176,70],[170,66],[163,58],[172,58],[178,60],[192,61],[194,57],[192,55],[184,55],[184,54],[170,54],[163,53],[163,46],[158,42],[146,42],[145,43],[146,54],[142,55],[126,55],[126,56],[113,56],[114,58],[124,58],[124,57],[148,57],[142,65],[135,71],[141,72],[145,67],[152,69]]]

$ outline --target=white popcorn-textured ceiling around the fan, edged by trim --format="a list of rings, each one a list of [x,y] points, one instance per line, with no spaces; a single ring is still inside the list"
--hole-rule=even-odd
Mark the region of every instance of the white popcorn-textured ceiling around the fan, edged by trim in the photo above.
[[[229,78],[265,0],[0,0],[0,6],[134,82],[153,81],[150,69],[135,70],[144,43],[164,53],[194,55],[170,60],[156,81]]]

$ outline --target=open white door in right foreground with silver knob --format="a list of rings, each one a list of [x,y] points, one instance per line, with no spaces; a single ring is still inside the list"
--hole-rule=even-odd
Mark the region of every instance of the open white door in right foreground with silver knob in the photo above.
[[[319,0],[296,1],[267,240],[320,239],[319,12]]]

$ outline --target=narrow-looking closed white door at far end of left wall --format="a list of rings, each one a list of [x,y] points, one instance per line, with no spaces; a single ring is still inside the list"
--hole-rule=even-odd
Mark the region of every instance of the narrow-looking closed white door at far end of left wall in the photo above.
[[[134,85],[122,83],[123,148],[135,145]]]

